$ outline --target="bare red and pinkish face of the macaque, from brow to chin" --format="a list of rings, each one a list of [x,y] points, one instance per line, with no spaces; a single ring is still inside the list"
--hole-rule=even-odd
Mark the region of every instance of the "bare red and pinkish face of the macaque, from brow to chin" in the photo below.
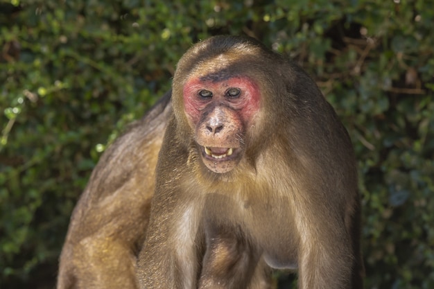
[[[247,77],[191,78],[183,92],[202,161],[215,173],[229,172],[243,157],[245,129],[259,111],[257,85]]]

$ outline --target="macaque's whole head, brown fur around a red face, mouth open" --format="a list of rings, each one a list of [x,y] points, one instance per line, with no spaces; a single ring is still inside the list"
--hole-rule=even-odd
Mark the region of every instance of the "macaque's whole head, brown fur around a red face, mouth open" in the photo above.
[[[203,164],[227,173],[266,141],[279,92],[276,55],[248,37],[211,37],[187,51],[173,79],[173,108],[182,140],[196,146]],[[272,83],[273,85],[269,85]],[[281,94],[280,94],[281,95]],[[274,100],[272,100],[274,101]],[[277,114],[278,115],[278,114]]]

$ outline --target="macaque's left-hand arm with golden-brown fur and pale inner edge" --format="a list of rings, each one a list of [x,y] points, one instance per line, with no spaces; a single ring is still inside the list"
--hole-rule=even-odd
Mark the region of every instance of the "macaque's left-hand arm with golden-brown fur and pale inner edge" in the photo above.
[[[182,186],[189,179],[187,153],[177,146],[174,130],[172,119],[159,153],[150,222],[137,264],[140,288],[196,288],[201,197]]]

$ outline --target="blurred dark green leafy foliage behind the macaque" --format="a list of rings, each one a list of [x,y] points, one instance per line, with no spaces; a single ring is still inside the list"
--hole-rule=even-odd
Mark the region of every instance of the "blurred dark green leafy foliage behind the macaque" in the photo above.
[[[1,0],[0,288],[53,288],[98,158],[211,35],[316,80],[354,143],[365,288],[434,288],[433,0]],[[127,208],[128,209],[128,208]],[[279,275],[277,288],[295,288]]]

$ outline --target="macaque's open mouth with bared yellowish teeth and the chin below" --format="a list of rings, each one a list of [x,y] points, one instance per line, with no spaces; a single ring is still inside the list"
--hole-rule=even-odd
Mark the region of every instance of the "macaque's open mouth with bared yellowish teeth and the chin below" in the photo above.
[[[239,148],[202,147],[202,161],[214,173],[228,173],[238,164]]]

